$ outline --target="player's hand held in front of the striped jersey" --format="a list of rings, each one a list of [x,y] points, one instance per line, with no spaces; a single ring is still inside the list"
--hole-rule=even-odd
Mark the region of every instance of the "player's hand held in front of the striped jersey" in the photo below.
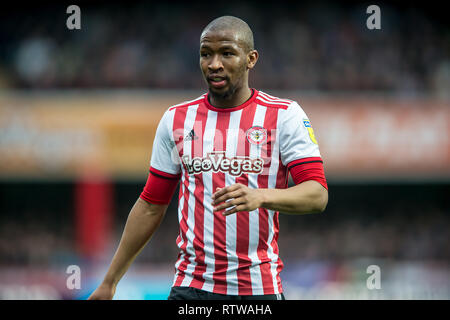
[[[217,188],[212,195],[214,211],[227,208],[222,214],[224,216],[239,211],[253,211],[263,204],[262,189],[251,189],[243,184],[235,183],[229,187]]]

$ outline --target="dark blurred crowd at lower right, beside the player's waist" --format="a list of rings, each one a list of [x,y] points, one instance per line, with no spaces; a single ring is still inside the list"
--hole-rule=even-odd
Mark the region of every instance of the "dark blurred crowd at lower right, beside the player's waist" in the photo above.
[[[448,212],[437,208],[420,212],[392,210],[371,219],[367,219],[367,214],[367,210],[352,210],[353,218],[331,223],[327,223],[329,217],[294,217],[297,223],[293,217],[281,217],[281,257],[296,261],[358,258],[450,261]]]

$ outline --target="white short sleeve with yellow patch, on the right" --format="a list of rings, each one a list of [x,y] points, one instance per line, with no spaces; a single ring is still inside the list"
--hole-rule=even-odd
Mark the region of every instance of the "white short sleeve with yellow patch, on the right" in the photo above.
[[[294,101],[283,111],[278,127],[283,165],[303,158],[320,157],[311,121],[297,102]]]

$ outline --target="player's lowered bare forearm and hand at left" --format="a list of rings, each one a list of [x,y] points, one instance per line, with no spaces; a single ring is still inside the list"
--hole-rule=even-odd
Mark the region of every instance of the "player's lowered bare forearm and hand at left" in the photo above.
[[[167,207],[166,204],[152,204],[138,198],[128,215],[122,238],[105,278],[89,300],[113,298],[119,280],[161,224]]]

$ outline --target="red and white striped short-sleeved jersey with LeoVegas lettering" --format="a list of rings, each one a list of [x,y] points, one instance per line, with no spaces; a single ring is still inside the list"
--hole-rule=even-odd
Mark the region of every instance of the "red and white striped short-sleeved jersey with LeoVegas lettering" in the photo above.
[[[217,187],[286,188],[290,162],[320,157],[310,122],[292,100],[252,89],[244,104],[216,108],[208,95],[170,107],[151,167],[180,176],[180,249],[174,286],[228,295],[278,294],[283,263],[278,212],[213,212]]]

